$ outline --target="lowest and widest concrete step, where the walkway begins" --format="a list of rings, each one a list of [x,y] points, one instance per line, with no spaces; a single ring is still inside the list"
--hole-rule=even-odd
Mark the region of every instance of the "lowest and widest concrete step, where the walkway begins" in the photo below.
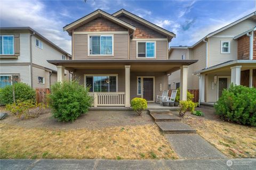
[[[196,133],[196,130],[182,122],[156,122],[165,134]]]

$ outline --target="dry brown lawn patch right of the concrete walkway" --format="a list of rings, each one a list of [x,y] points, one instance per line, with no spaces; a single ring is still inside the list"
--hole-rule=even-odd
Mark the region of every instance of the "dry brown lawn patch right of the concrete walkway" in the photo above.
[[[186,116],[183,121],[230,158],[256,158],[256,128]]]

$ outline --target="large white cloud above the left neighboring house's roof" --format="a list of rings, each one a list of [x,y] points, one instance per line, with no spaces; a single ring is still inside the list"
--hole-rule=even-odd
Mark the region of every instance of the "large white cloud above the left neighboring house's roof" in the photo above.
[[[1,27],[31,27],[66,52],[71,52],[71,38],[62,31],[59,14],[47,11],[39,1],[1,1]],[[10,12],[10,9],[15,9]],[[66,15],[67,11],[65,12]]]

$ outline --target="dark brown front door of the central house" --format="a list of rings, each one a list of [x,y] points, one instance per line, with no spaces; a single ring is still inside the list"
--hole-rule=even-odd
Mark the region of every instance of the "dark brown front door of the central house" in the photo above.
[[[147,101],[153,101],[153,78],[143,78],[143,98]]]

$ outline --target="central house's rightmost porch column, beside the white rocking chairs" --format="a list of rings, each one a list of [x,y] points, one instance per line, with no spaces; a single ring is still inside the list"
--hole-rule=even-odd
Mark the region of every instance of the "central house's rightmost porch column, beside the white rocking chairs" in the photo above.
[[[180,66],[180,100],[187,100],[188,66]]]

